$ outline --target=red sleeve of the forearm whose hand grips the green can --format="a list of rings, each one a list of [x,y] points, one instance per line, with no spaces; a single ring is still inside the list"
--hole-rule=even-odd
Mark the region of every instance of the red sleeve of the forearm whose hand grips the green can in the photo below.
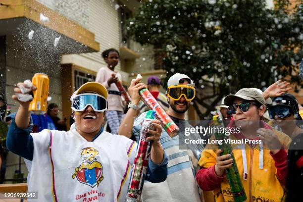
[[[226,174],[222,177],[218,176],[215,173],[214,166],[201,168],[196,174],[198,185],[204,191],[212,191],[215,188],[220,187],[220,184],[225,177]]]

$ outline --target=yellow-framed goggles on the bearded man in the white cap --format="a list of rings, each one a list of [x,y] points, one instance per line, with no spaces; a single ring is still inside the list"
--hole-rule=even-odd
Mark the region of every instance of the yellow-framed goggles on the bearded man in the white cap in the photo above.
[[[196,96],[196,89],[188,85],[176,85],[167,88],[167,95],[170,99],[178,101],[184,96],[186,101],[192,101]]]

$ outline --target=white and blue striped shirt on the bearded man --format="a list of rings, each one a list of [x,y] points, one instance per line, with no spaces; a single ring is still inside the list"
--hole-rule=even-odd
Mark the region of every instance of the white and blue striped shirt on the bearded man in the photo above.
[[[146,112],[141,114],[134,123],[133,134],[137,142],[145,116]],[[172,116],[171,118],[178,125],[180,133],[184,131],[185,127],[191,127],[185,120]],[[200,152],[181,150],[179,141],[182,142],[179,140],[179,135],[171,138],[165,130],[162,130],[160,142],[168,158],[168,176],[161,183],[144,183],[141,196],[143,202],[200,202],[195,175],[196,171],[199,170],[198,160],[200,156],[197,153],[201,153],[203,148],[202,146],[197,148]]]

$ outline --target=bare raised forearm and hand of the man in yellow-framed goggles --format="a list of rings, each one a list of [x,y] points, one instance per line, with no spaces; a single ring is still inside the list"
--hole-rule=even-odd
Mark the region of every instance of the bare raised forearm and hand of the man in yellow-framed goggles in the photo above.
[[[143,83],[138,83],[141,80],[141,78],[133,79],[129,88],[128,93],[131,97],[132,104],[135,104],[138,106],[138,103],[140,101],[139,96],[139,90],[143,88],[147,88],[147,86]],[[138,84],[136,84],[138,83]],[[125,117],[123,118],[123,121],[119,127],[118,134],[123,135],[127,138],[130,138],[132,136],[134,121],[137,115],[137,110],[133,108],[129,108],[127,113],[125,114]]]

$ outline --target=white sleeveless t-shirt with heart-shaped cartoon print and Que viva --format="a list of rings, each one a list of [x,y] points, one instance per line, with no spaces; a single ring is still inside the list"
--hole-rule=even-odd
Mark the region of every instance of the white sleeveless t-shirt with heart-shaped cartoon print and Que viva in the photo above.
[[[33,202],[124,202],[137,144],[103,131],[93,142],[76,129],[31,134],[28,192]],[[97,180],[96,180],[97,179]]]

